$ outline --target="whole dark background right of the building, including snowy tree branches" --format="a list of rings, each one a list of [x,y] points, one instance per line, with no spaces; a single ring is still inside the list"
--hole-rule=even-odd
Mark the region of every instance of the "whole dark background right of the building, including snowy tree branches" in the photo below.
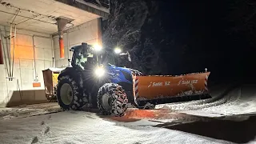
[[[106,49],[128,50],[145,74],[211,71],[211,82],[254,82],[256,2],[112,0]]]

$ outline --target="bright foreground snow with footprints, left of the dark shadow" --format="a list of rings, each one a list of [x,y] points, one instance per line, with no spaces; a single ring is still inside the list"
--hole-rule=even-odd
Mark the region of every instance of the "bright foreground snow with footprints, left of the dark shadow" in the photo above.
[[[118,122],[81,111],[0,121],[2,144],[22,143],[231,143],[158,127],[161,122]]]

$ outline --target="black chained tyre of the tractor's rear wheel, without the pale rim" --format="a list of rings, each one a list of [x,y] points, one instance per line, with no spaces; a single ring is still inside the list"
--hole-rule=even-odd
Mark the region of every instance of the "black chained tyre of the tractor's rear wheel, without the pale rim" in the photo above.
[[[65,83],[69,84],[73,91],[73,98],[70,102],[70,105],[64,104],[60,95],[61,87]],[[57,101],[58,105],[62,107],[62,110],[79,110],[80,108],[82,108],[82,106],[85,105],[85,102],[83,102],[82,100],[83,97],[84,96],[82,94],[81,88],[78,86],[78,82],[74,81],[73,78],[71,78],[69,75],[59,78],[57,85]]]

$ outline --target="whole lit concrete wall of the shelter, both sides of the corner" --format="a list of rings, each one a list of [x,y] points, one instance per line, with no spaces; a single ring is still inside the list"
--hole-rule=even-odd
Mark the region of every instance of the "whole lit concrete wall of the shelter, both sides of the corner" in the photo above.
[[[66,30],[64,34],[65,58],[62,59],[59,58],[58,35],[52,38],[50,34],[17,30],[13,81],[6,78],[8,77],[6,65],[0,65],[0,107],[47,102],[42,70],[53,65],[56,67],[68,66],[67,59],[72,58],[72,52],[69,51],[72,46],[81,45],[82,42],[91,45],[101,44],[101,31],[98,24],[99,19],[94,19]],[[3,48],[6,51],[6,40],[3,37],[10,35],[10,27],[6,26],[5,31],[5,27],[0,26],[0,30]],[[7,46],[10,47],[10,39],[7,39]],[[52,58],[55,60],[54,64]],[[9,67],[8,62],[7,67]],[[36,76],[38,76],[38,82],[41,82],[40,87],[33,87]]]

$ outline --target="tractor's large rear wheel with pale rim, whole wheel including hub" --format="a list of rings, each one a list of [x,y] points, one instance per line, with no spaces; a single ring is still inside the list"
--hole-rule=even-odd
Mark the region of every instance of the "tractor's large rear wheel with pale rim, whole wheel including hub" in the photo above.
[[[62,76],[58,80],[57,100],[62,110],[79,110],[85,105],[83,94],[78,82],[69,75]]]

